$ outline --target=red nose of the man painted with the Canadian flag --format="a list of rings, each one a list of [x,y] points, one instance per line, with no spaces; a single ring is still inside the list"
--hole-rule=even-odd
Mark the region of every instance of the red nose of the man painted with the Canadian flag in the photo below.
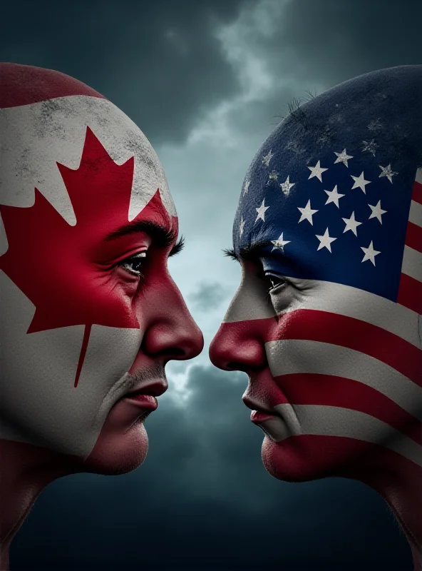
[[[164,363],[171,359],[187,360],[204,348],[200,328],[190,315],[180,290],[173,280],[165,291],[148,302],[148,327],[141,349],[148,355],[160,355]]]

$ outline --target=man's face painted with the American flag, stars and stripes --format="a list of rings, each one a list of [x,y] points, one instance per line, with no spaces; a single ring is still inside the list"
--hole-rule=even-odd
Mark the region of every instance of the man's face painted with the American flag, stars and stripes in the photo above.
[[[422,226],[422,175],[395,173],[393,187],[384,158],[344,141],[301,155],[306,136],[280,126],[257,153],[233,227],[242,282],[210,347],[217,367],[249,375],[243,400],[282,480],[369,451],[422,462],[421,298],[408,288],[422,274],[404,247],[409,207]]]

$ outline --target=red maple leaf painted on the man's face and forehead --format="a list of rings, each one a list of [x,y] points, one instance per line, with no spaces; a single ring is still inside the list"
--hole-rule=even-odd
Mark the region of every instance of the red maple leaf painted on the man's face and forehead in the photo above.
[[[134,158],[118,166],[89,127],[81,164],[73,170],[56,163],[76,216],[70,226],[35,188],[34,205],[0,206],[9,249],[0,269],[36,307],[26,333],[85,325],[75,386],[88,347],[91,325],[139,328],[127,296],[98,287],[98,268],[87,252],[98,250],[109,231],[128,223]],[[172,227],[157,190],[138,220]]]

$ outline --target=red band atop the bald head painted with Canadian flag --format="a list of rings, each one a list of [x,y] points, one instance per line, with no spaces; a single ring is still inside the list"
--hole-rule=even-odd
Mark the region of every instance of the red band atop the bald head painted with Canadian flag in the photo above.
[[[0,108],[29,105],[70,95],[105,98],[82,81],[53,69],[1,63],[0,77]]]

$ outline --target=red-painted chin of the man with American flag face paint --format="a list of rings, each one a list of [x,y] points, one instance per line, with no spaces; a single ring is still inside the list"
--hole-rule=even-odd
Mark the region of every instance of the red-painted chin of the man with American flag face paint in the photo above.
[[[348,477],[364,463],[369,446],[359,440],[335,436],[299,435],[275,442],[267,435],[261,458],[269,474],[285,482],[309,482],[324,477]]]

